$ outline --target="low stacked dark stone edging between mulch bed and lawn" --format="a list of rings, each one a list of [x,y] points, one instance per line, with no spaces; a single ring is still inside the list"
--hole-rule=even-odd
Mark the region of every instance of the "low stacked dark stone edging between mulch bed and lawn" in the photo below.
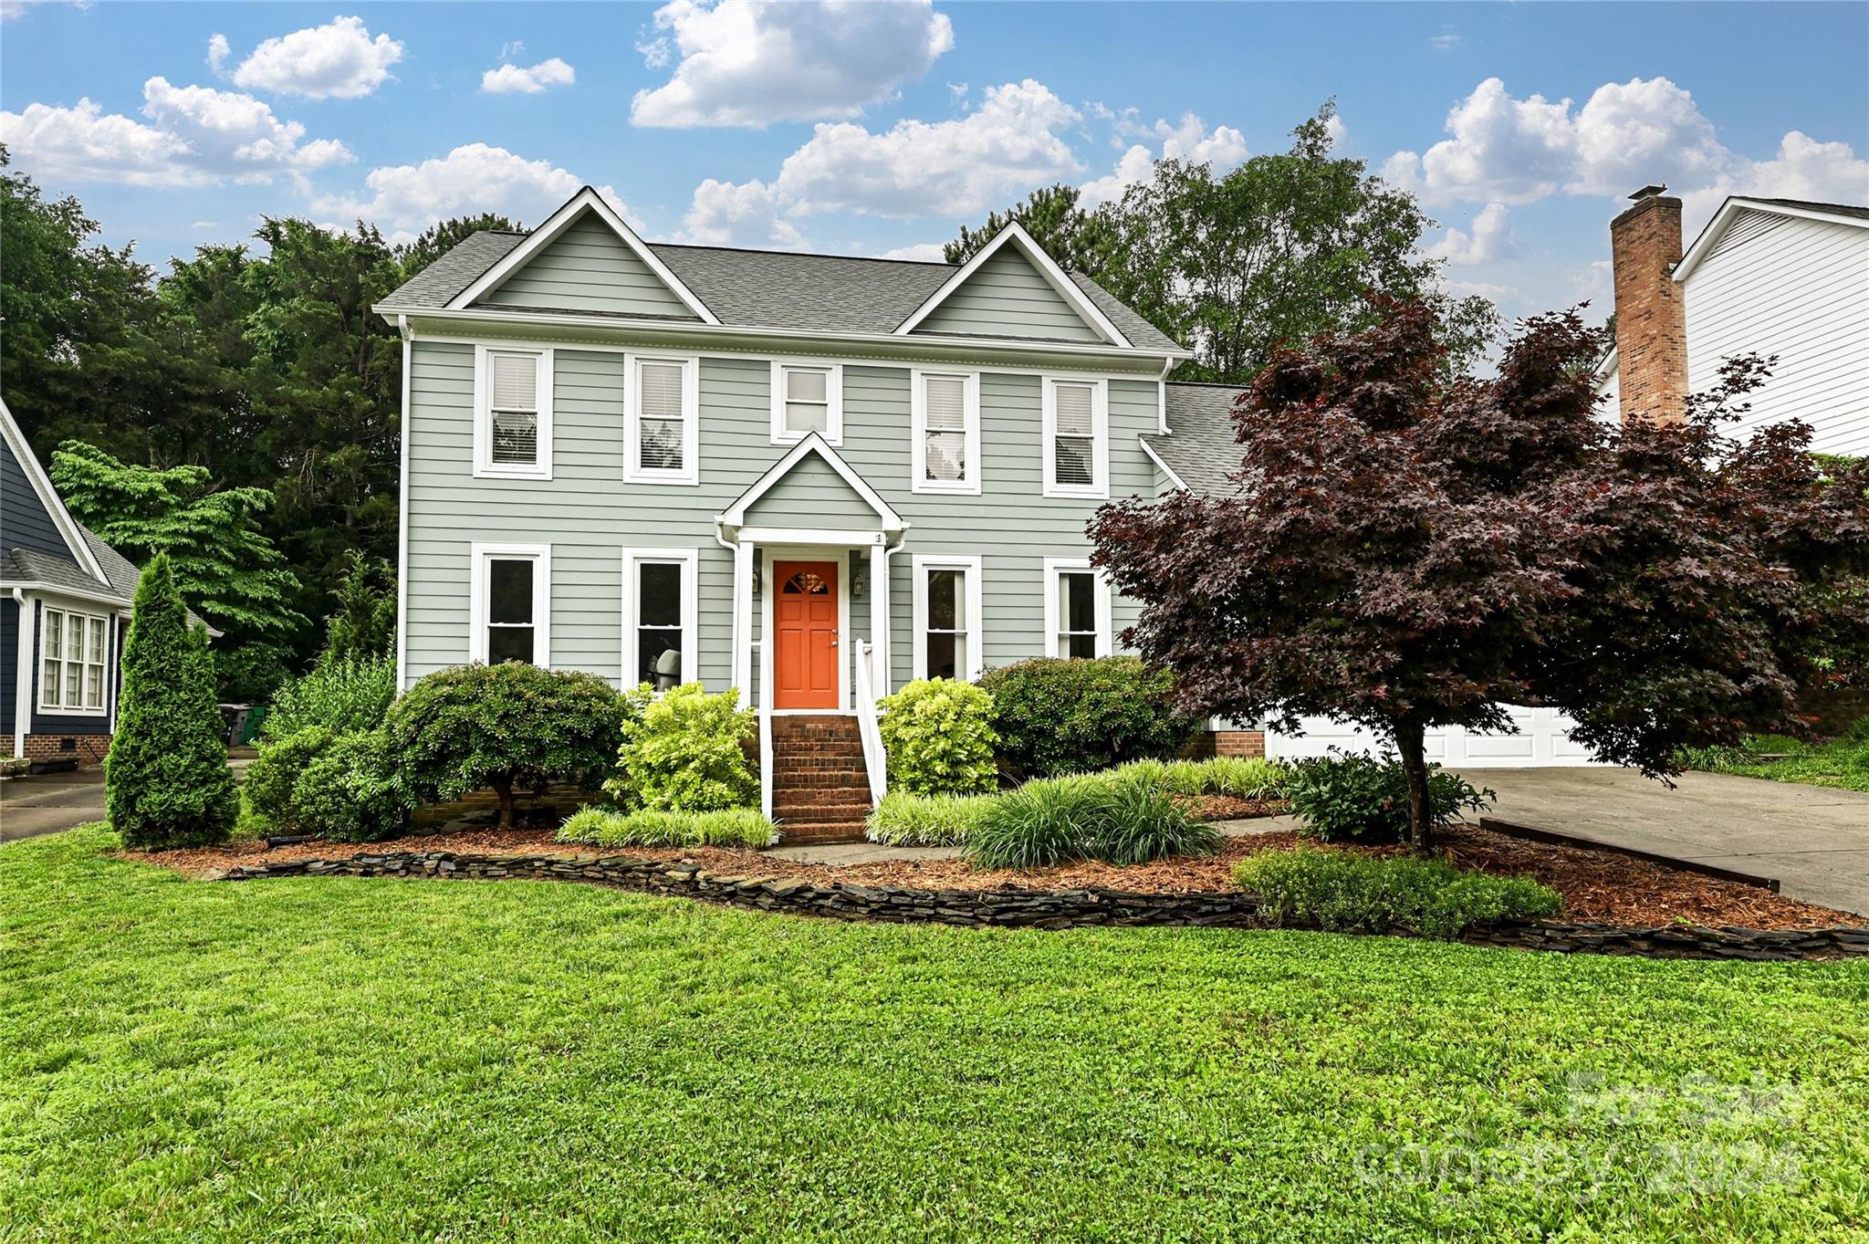
[[[703,898],[759,912],[845,921],[933,923],[963,928],[1228,926],[1263,928],[1254,895],[1120,889],[899,889],[800,878],[729,876],[680,859],[583,852],[462,855],[454,852],[359,852],[348,859],[282,859],[239,865],[213,880],[284,876],[396,876],[435,880],[538,880],[613,885],[650,895]],[[1396,928],[1409,936],[1411,930]],[[1617,928],[1561,921],[1499,921],[1462,941],[1533,951],[1635,954],[1643,958],[1826,960],[1869,958],[1869,928]]]

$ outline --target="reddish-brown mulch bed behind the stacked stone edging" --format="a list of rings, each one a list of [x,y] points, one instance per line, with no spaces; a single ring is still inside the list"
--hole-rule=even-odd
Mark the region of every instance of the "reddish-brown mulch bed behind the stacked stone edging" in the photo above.
[[[794,863],[742,850],[609,850],[607,855],[641,859],[690,859],[725,874],[802,878],[819,884],[854,882],[903,889],[1127,889],[1179,893],[1232,889],[1234,865],[1265,850],[1301,844],[1295,833],[1275,831],[1228,839],[1211,857],[1161,859],[1151,865],[1116,867],[1075,863],[1022,872],[976,872],[964,859],[897,859],[888,863],[820,865]],[[1454,826],[1441,844],[1462,869],[1501,876],[1533,876],[1564,897],[1564,917],[1626,928],[1675,923],[1733,925],[1740,928],[1832,928],[1860,926],[1860,915],[1798,902],[1766,889],[1723,882],[1699,872],[1632,859],[1615,852],[1510,839],[1477,826]],[[301,842],[267,850],[264,842],[239,842],[204,850],[123,852],[125,859],[157,863],[189,876],[209,876],[235,865],[284,859],[348,859],[391,852],[452,852],[462,855],[535,854],[578,850],[553,842],[548,829],[469,829],[430,833],[387,842]],[[1351,848],[1372,855],[1398,855],[1405,846]]]

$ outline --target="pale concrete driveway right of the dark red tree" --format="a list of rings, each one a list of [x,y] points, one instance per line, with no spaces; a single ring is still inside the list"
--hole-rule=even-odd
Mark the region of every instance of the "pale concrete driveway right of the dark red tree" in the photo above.
[[[1783,882],[1791,898],[1869,915],[1869,794],[1725,773],[1675,790],[1634,770],[1460,770],[1491,816]]]

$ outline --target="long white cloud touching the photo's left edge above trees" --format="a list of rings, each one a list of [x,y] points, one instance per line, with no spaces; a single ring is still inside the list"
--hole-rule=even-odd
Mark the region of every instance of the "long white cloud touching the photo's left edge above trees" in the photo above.
[[[0,142],[37,176],[125,185],[271,181],[353,159],[335,138],[305,142],[303,125],[280,121],[252,95],[155,77],[142,99],[150,123],[105,114],[90,99],[0,112]]]

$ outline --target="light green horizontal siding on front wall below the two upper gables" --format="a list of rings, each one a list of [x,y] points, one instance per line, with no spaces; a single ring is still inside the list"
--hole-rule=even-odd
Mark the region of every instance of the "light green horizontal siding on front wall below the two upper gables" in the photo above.
[[[890,562],[892,682],[910,678],[912,562],[923,555],[983,558],[987,665],[1045,650],[1043,558],[1088,557],[1084,523],[1095,501],[1045,497],[1039,458],[1039,377],[981,374],[979,497],[910,489],[906,366],[847,364],[845,461],[908,523]],[[467,659],[473,542],[551,545],[551,665],[621,678],[622,549],[697,551],[699,672],[731,680],[733,557],[714,540],[723,512],[791,446],[770,443],[770,368],[764,359],[701,359],[701,484],[622,482],[622,355],[553,351],[553,478],[473,478],[473,347],[417,340],[409,374],[406,676]],[[1157,422],[1155,381],[1110,381],[1112,499],[1151,495],[1153,463],[1138,433]],[[875,530],[875,516],[820,459],[806,456],[749,516],[778,527]],[[826,557],[850,566],[849,549]],[[863,562],[867,577],[867,562]],[[875,590],[871,585],[869,590]],[[763,601],[759,601],[763,603]],[[1116,601],[1116,631],[1134,607]],[[759,626],[755,607],[753,626]],[[850,607],[869,637],[867,592]]]

